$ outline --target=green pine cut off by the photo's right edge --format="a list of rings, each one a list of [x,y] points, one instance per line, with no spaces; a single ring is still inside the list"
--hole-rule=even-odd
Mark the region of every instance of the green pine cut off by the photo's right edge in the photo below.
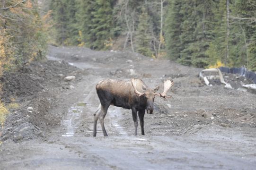
[[[256,3],[248,0],[235,0],[232,8],[234,16],[234,26],[236,35],[240,34],[237,40],[237,53],[235,66],[246,65],[248,69],[256,70]],[[240,18],[247,18],[241,20]],[[235,51],[236,52],[236,51]],[[235,60],[235,59],[233,59]]]

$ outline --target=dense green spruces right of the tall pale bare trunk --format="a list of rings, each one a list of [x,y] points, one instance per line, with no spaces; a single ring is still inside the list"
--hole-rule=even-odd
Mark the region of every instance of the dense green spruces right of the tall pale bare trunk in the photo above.
[[[227,19],[227,1],[169,0],[169,58],[187,66],[207,67],[219,60],[228,67],[256,70],[256,4],[229,0]]]

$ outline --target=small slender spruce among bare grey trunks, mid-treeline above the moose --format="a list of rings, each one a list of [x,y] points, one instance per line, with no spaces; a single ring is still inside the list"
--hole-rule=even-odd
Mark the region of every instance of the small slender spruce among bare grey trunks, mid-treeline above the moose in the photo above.
[[[149,36],[149,16],[145,8],[142,8],[142,13],[139,18],[139,25],[136,34],[136,51],[145,55],[151,56],[152,52],[150,50],[150,36]]]

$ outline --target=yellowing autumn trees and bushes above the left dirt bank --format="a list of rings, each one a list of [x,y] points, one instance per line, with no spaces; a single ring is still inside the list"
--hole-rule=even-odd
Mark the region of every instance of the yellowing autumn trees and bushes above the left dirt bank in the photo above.
[[[46,35],[37,0],[0,1],[0,74],[46,52]]]

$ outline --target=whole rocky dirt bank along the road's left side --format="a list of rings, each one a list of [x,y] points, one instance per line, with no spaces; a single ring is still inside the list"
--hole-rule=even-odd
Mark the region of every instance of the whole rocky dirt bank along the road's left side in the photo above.
[[[60,125],[61,114],[51,112],[62,92],[74,88],[82,71],[67,62],[33,62],[15,72],[5,72],[1,99],[9,105],[15,101],[18,109],[9,109],[10,114],[2,132],[2,140],[32,139],[44,136],[45,131]],[[64,81],[65,76],[76,76],[75,80]]]

